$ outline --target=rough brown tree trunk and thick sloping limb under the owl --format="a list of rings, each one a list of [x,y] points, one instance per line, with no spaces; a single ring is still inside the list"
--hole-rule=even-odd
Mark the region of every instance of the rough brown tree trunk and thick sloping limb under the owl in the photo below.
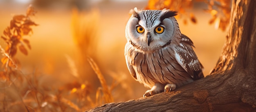
[[[256,112],[256,0],[233,0],[230,29],[211,74],[148,98],[108,103],[91,111]]]

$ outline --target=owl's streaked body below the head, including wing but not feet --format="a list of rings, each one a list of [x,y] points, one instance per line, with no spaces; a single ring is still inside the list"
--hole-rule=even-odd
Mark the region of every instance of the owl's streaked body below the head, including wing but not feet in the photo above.
[[[180,45],[166,45],[155,52],[139,52],[128,42],[126,64],[132,76],[145,86],[152,87],[155,83],[184,85],[204,77],[191,46],[192,41],[183,34]]]

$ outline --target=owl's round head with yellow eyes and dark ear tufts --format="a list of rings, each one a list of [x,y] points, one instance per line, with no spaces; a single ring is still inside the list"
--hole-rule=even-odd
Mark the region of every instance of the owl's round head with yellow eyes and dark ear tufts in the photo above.
[[[153,52],[165,47],[180,37],[177,11],[170,10],[130,10],[131,17],[126,25],[126,38],[141,52]]]

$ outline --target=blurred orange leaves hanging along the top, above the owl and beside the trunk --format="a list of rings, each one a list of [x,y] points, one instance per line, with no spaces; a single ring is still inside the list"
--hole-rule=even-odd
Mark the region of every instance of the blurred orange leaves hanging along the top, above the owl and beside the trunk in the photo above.
[[[164,8],[178,11],[180,15],[189,16],[191,22],[196,23],[196,17],[193,13],[188,13],[189,9],[194,8],[195,2],[206,3],[208,9],[205,9],[207,13],[211,13],[212,18],[209,20],[209,24],[215,24],[216,29],[225,31],[229,24],[231,0],[149,0],[146,9],[162,10]],[[177,18],[180,16],[177,15]],[[186,18],[183,20],[184,24],[187,23]]]

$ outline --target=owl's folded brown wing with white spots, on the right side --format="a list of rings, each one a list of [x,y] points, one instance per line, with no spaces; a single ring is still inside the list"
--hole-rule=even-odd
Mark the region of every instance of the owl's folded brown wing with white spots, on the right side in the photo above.
[[[189,37],[182,34],[180,45],[175,47],[175,58],[193,80],[197,80],[204,77],[202,73],[203,67],[191,46],[194,46],[193,42]]]

